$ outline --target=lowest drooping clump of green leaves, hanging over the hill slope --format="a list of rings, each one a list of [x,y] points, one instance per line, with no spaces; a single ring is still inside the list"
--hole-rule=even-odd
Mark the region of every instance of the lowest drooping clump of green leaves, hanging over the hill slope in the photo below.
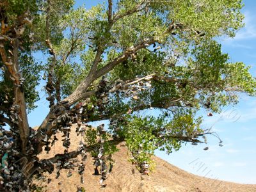
[[[126,116],[120,125],[119,136],[125,138],[127,147],[132,152],[134,163],[150,162],[150,157],[159,148],[168,154],[179,150],[183,136],[202,133],[202,118],[195,118],[192,111],[180,111],[166,118],[166,113],[154,116]],[[168,113],[167,113],[168,114]]]

